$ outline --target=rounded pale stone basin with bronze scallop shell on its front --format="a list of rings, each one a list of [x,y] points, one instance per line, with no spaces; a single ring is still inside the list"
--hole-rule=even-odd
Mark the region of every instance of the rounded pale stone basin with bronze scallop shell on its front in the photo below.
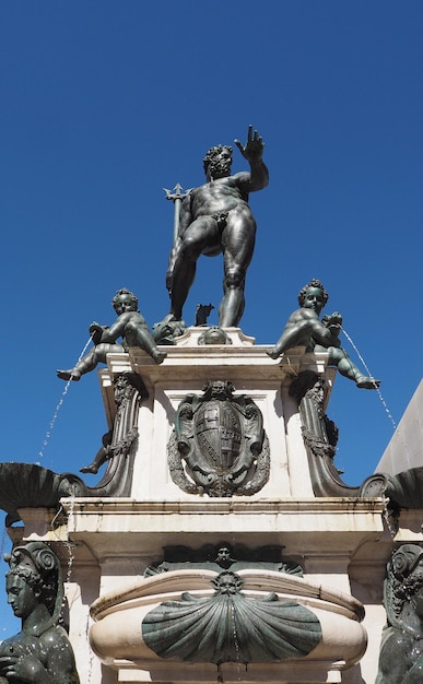
[[[226,682],[260,681],[262,668],[281,682],[293,663],[303,679],[290,682],[338,682],[366,649],[359,601],[272,570],[171,570],[101,597],[91,614],[91,646],[122,682],[189,681],[192,663],[202,682],[216,668]]]

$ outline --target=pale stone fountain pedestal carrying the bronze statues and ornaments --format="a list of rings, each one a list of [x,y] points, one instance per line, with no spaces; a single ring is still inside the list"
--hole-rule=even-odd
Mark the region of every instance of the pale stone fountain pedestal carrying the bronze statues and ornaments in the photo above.
[[[175,346],[166,347],[167,358],[160,366],[141,350],[108,355],[107,368],[98,375],[109,427],[115,429],[113,444],[120,448],[128,425],[138,438],[114,456],[108,474],[97,487],[89,487],[87,496],[61,499],[63,515],[49,510],[44,511],[45,519],[22,515],[24,536],[48,540],[68,565],[71,637],[81,681],[371,684],[385,621],[381,582],[392,539],[384,522],[384,499],[344,485],[333,465],[333,439],[325,414],[336,372],[327,367],[328,355],[305,354],[298,347],[275,362],[266,354],[267,347],[256,345],[239,329],[226,330],[232,342],[226,345],[201,345],[201,333],[202,329],[189,329]],[[131,390],[122,409],[115,380],[128,374],[142,379],[148,397]],[[244,490],[234,485],[232,496],[209,496],[213,490],[207,486],[181,488],[168,461],[179,439],[174,431],[180,402],[193,396],[197,399],[188,399],[187,404],[198,405],[204,385],[215,381],[230,381],[235,388],[230,401],[246,416],[240,428],[245,445],[251,406],[252,413],[258,408],[265,431],[260,453],[265,449],[268,460],[255,452],[245,475],[247,485]],[[224,434],[226,438],[227,427]],[[239,448],[247,449],[245,445],[242,441]],[[213,465],[213,448],[209,451]],[[267,469],[262,476],[255,474],[258,464]],[[183,480],[192,483],[192,469],[184,455],[180,469]],[[117,484],[119,476],[125,482]],[[248,477],[259,482],[250,495],[244,493]],[[408,538],[411,531],[397,528],[395,533]],[[161,571],[168,550],[178,546],[189,550],[185,564],[171,564]],[[201,569],[196,554],[201,556],[204,547],[214,554],[228,547],[233,555],[238,553],[238,565],[211,568],[207,564],[215,559],[210,556],[200,558],[205,563]],[[273,554],[281,550],[278,570],[263,567],[257,555],[257,550],[270,547]],[[301,566],[303,575],[292,575],[282,568],[284,564]],[[152,567],[158,568],[154,576]],[[233,567],[238,569],[232,571]],[[149,568],[150,575],[144,576]],[[232,597],[222,588],[226,570],[232,573],[231,581],[238,582],[238,588],[227,590]],[[234,634],[222,647],[222,662],[208,660],[209,647],[184,627],[179,613],[172,612],[175,606],[183,610],[184,601],[195,606],[210,603],[212,612],[226,601]],[[236,622],[240,618],[234,615],[240,611],[247,623],[254,623],[250,612],[257,605],[268,610],[269,602],[279,608],[294,603],[301,606],[301,615],[317,620],[318,644],[305,654],[267,656],[265,644],[272,642],[272,628],[284,629],[279,617],[277,625],[270,617],[268,624],[261,621],[257,633],[255,627],[243,640]],[[149,645],[142,625],[163,604],[174,615],[175,644],[185,629],[186,638],[199,639],[196,657],[180,656],[178,649],[172,658],[163,657]],[[216,624],[219,635],[226,623]],[[364,654],[366,627],[369,646]],[[234,644],[239,661],[233,653],[224,656]]]

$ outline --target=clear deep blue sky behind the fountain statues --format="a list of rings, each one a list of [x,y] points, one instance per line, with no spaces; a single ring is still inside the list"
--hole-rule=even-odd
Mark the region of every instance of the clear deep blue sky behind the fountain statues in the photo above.
[[[200,185],[205,150],[245,142],[249,123],[270,185],[250,198],[242,329],[273,344],[319,278],[399,421],[423,365],[422,32],[420,0],[3,0],[2,460],[91,461],[106,432],[96,374],[72,385],[50,431],[56,368],[73,365],[92,320],[111,322],[119,287],[150,326],[165,316],[162,188]],[[233,170],[245,168],[235,149]],[[218,306],[221,281],[221,258],[202,258],[188,323],[199,302]],[[341,377],[328,413],[338,468],[360,484],[391,421],[376,392]]]

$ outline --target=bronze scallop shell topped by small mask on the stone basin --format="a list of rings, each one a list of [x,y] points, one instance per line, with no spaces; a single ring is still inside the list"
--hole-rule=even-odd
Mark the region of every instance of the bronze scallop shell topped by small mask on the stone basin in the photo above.
[[[161,658],[187,662],[248,664],[307,656],[321,639],[317,616],[295,601],[271,592],[246,597],[243,580],[223,570],[211,580],[214,594],[185,591],[165,601],[142,622],[145,644]]]

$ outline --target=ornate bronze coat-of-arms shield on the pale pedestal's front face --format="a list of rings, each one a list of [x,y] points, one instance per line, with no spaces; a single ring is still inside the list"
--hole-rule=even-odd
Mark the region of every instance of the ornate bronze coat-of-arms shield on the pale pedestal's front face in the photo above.
[[[168,464],[175,484],[190,494],[251,495],[269,480],[269,443],[257,404],[234,397],[227,380],[187,394],[175,415]]]

